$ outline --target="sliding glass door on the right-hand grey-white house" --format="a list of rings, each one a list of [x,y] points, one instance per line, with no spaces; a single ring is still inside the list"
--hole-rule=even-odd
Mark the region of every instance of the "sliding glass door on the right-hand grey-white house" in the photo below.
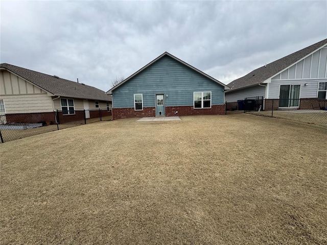
[[[279,88],[279,107],[298,107],[300,85],[281,85]]]

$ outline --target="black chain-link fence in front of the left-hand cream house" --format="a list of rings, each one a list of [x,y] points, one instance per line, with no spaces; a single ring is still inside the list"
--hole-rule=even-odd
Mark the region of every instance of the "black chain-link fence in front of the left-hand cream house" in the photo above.
[[[0,142],[8,142],[37,134],[91,122],[111,120],[111,111],[79,110],[0,115]]]

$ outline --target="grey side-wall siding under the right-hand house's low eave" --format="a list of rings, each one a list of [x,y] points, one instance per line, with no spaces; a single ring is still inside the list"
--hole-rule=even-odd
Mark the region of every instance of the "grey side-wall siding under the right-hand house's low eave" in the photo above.
[[[237,102],[238,100],[244,100],[249,97],[263,96],[265,97],[266,87],[253,86],[250,88],[244,88],[236,91],[225,93],[226,102]]]

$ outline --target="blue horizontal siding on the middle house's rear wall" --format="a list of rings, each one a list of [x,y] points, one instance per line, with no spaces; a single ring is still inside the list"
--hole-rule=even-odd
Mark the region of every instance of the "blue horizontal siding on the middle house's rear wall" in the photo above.
[[[143,94],[143,107],[155,106],[155,94],[165,94],[165,106],[193,106],[193,92],[212,92],[212,105],[224,104],[224,87],[164,56],[112,91],[113,108],[133,108],[134,94]],[[168,97],[167,97],[168,95]]]

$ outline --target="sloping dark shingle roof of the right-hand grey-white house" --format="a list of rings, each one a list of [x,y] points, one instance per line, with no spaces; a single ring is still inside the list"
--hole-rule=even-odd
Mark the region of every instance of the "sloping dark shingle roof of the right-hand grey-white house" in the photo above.
[[[245,75],[244,77],[236,79],[230,82],[229,84],[227,84],[227,86],[230,87],[230,90],[228,92],[245,88],[245,87],[251,87],[259,83],[263,83],[265,80],[273,77],[274,75],[278,74],[282,70],[293,65],[297,61],[319,50],[319,48],[321,48],[326,43],[327,43],[327,39],[324,39],[320,42],[305,47],[302,50],[299,50],[293,54],[285,56],[279,60],[273,61],[258,69],[252,70],[249,74]]]

